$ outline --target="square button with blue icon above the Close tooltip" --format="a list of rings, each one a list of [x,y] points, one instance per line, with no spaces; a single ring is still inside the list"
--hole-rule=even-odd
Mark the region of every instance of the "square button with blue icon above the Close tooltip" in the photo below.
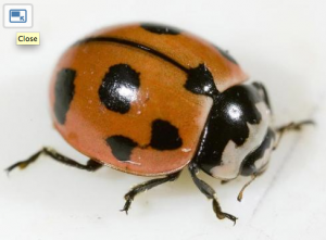
[[[33,27],[32,4],[4,4],[3,5],[4,27]]]

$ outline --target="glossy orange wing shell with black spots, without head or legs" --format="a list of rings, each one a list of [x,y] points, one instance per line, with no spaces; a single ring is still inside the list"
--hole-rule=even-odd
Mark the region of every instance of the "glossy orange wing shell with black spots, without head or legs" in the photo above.
[[[226,52],[185,31],[151,24],[102,29],[72,46],[54,70],[54,126],[113,168],[177,172],[195,155],[212,108],[192,83],[203,85],[203,76],[221,92],[247,79]]]

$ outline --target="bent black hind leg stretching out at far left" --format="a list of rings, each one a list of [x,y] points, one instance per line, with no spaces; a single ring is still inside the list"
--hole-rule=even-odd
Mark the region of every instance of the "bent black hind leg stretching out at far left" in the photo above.
[[[85,169],[85,170],[89,170],[89,172],[95,172],[97,169],[99,169],[102,164],[93,161],[93,160],[89,160],[86,165],[83,165],[70,157],[66,157],[62,154],[60,154],[59,152],[57,152],[55,150],[53,149],[50,149],[50,148],[42,148],[40,151],[36,152],[35,154],[33,154],[32,156],[29,156],[27,160],[25,161],[21,161],[21,162],[17,162],[13,165],[11,165],[10,167],[8,167],[5,170],[8,173],[10,173],[11,170],[13,170],[14,168],[16,167],[20,167],[21,169],[24,169],[26,168],[30,163],[34,163],[36,160],[39,159],[39,156],[41,154],[46,154],[48,156],[51,156],[51,159],[60,162],[60,163],[63,163],[67,166],[73,166],[73,167],[76,167],[76,168],[79,168],[79,169]]]

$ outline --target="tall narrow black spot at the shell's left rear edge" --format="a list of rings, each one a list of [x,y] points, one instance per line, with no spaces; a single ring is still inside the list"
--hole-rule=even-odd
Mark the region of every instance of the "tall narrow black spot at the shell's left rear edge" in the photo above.
[[[54,86],[54,115],[60,124],[65,123],[66,113],[70,110],[71,102],[75,93],[74,80],[76,71],[63,68],[57,75]]]

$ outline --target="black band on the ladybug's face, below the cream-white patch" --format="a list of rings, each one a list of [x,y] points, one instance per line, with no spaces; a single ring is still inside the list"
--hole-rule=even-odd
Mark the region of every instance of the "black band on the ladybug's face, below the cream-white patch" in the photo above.
[[[272,147],[273,139],[275,139],[275,134],[271,128],[268,128],[262,144],[256,150],[249,153],[243,160],[241,165],[241,170],[240,170],[242,176],[250,176],[260,170],[256,169],[254,163],[264,156],[266,150],[273,148]]]

